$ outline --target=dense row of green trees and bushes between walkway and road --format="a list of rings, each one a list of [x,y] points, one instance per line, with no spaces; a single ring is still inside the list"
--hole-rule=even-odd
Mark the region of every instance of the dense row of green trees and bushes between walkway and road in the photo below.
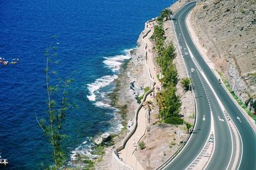
[[[182,124],[179,117],[180,97],[177,96],[178,74],[173,59],[176,57],[175,47],[172,43],[164,47],[163,25],[158,23],[154,27],[154,41],[156,42],[157,64],[161,69],[164,78],[161,79],[163,90],[157,93],[157,103],[159,106],[159,118],[168,124]]]

